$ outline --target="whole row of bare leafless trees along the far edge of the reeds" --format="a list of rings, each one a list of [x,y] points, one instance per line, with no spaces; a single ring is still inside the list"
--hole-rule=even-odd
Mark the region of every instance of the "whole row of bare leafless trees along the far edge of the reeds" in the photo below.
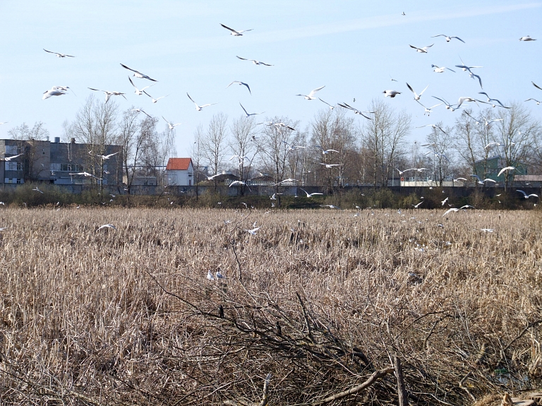
[[[373,100],[365,114],[356,119],[347,109],[325,109],[315,114],[305,129],[289,117],[239,117],[232,121],[215,114],[207,127],[194,133],[191,157],[196,167],[195,184],[230,171],[243,183],[265,174],[280,191],[284,179],[296,179],[306,186],[387,186],[397,177],[431,179],[442,186],[453,177],[470,174],[488,176],[488,162],[499,157],[501,167],[522,165],[529,172],[542,169],[541,124],[522,105],[510,108],[471,109],[456,113],[452,126],[430,124],[425,143],[407,143],[411,117],[397,112],[383,100]],[[89,97],[71,123],[65,123],[66,138],[89,145],[86,168],[103,177],[100,159],[107,145],[121,145],[123,177],[127,189],[138,175],[157,176],[174,154],[174,130],[157,130],[158,119],[137,109],[119,112],[113,101],[103,103]],[[423,130],[419,130],[423,131]],[[26,124],[10,131],[12,138],[43,139],[42,123]],[[206,168],[206,171],[203,170]],[[425,168],[403,175],[401,169]],[[493,168],[494,170],[494,168]],[[513,172],[505,172],[505,186]],[[215,188],[217,178],[212,178]],[[241,194],[246,185],[241,184]]]

